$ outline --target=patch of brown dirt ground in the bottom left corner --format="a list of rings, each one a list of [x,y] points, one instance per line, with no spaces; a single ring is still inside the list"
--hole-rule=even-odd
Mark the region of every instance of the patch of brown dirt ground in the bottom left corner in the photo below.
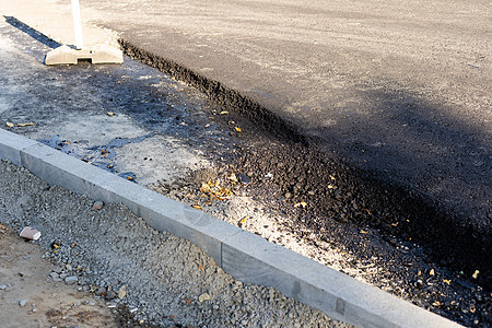
[[[60,268],[43,255],[39,245],[0,225],[1,327],[118,327],[103,300],[52,281],[49,274]]]

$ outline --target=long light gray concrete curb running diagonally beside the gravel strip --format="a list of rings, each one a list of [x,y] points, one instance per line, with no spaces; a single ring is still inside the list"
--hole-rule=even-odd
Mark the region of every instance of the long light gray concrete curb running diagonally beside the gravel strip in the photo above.
[[[51,185],[105,202],[121,202],[149,225],[187,238],[235,279],[273,286],[360,327],[461,327],[178,201],[0,129],[0,159]]]

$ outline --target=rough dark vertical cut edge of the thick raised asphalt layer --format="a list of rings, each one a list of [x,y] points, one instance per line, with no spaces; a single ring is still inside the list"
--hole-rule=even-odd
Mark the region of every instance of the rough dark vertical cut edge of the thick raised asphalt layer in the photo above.
[[[305,133],[302,128],[220,81],[208,79],[179,62],[152,54],[126,39],[125,35],[118,39],[118,43],[125,55],[197,87],[227,110],[238,113],[280,140],[300,143],[323,152],[324,147],[317,137]],[[340,153],[332,151],[329,153],[331,157],[348,163]],[[367,174],[374,173],[367,172]],[[389,185],[399,190],[393,199],[395,202],[403,201],[407,207],[422,212],[421,220],[412,220],[413,233],[417,233],[411,236],[413,239],[430,246],[431,254],[437,258],[452,258],[450,266],[455,269],[479,268],[482,283],[490,285],[491,265],[490,261],[483,261],[490,253],[490,230],[484,232],[482,226],[469,222],[465,214],[458,214],[438,199],[422,190],[410,188],[394,176],[374,176],[373,178],[382,185]],[[460,247],[456,247],[457,244]]]

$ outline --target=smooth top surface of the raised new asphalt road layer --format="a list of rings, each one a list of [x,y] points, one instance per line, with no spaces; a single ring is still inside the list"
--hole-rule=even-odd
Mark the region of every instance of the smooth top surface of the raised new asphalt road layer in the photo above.
[[[107,1],[87,20],[491,229],[490,1]]]

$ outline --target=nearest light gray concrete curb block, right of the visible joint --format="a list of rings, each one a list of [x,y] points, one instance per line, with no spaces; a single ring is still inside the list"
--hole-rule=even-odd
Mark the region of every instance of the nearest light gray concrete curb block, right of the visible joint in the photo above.
[[[460,327],[248,232],[223,242],[222,268],[360,327]]]

